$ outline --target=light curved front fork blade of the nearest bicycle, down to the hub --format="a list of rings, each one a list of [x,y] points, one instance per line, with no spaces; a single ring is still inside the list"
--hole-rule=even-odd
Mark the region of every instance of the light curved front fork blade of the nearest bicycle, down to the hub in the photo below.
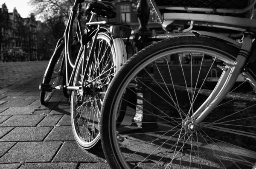
[[[245,34],[241,49],[233,65],[226,64],[222,68],[223,73],[221,74],[220,80],[212,90],[211,95],[206,101],[198,108],[198,110],[190,117],[192,123],[189,125],[191,130],[194,130],[196,126],[204,120],[205,117],[224,99],[231,87],[236,82],[237,77],[241,73],[241,69],[249,56],[250,49],[252,47],[253,37]],[[226,79],[226,80],[225,80]]]

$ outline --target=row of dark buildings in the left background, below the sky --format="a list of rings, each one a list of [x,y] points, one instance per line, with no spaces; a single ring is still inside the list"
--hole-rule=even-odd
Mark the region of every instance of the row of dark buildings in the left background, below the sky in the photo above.
[[[8,62],[49,59],[45,51],[47,56],[43,56],[43,50],[38,54],[38,44],[42,46],[44,44],[38,41],[38,31],[42,29],[42,23],[35,20],[35,15],[31,14],[28,18],[22,18],[16,8],[9,12],[5,3],[1,7],[0,60]],[[54,48],[54,45],[45,46],[45,48],[49,51]]]

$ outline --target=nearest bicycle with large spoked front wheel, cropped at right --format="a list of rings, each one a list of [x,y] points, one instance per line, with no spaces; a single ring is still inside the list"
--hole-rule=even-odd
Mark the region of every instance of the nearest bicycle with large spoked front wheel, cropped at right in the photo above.
[[[163,29],[175,34],[139,51],[113,78],[100,118],[109,165],[254,169],[256,0],[150,1]],[[195,55],[199,65],[192,64]],[[219,76],[213,89],[205,83],[212,68]],[[233,87],[241,74],[246,80]],[[132,104],[123,97],[128,91],[137,95],[136,108],[120,109]]]

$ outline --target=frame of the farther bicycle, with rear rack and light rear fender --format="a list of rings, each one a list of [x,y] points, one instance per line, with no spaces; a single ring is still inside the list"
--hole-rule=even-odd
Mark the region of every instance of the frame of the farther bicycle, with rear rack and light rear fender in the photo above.
[[[77,2],[77,1],[76,1]],[[72,82],[72,77],[75,75],[75,70],[76,70],[76,66],[78,64],[79,58],[83,57],[85,58],[85,54],[87,51],[87,46],[86,44],[90,41],[90,39],[93,39],[93,45],[95,45],[96,43],[96,37],[98,35],[98,33],[100,31],[107,31],[109,32],[114,38],[113,41],[115,42],[114,45],[116,45],[116,43],[121,44],[121,48],[118,46],[115,46],[116,51],[116,69],[119,70],[121,68],[121,66],[127,61],[127,54],[126,54],[126,49],[125,49],[125,44],[122,40],[122,35],[125,37],[130,36],[130,34],[125,34],[125,29],[119,29],[118,31],[116,31],[116,27],[118,26],[124,26],[128,28],[128,24],[126,23],[118,23],[118,22],[109,22],[109,21],[102,21],[102,22],[92,22],[93,20],[96,19],[96,15],[92,14],[92,16],[90,17],[90,21],[88,23],[86,23],[87,28],[84,31],[84,34],[82,34],[81,32],[81,21],[80,21],[80,17],[78,16],[78,23],[77,23],[77,37],[80,39],[81,43],[83,45],[81,45],[80,50],[79,50],[79,54],[78,54],[78,58],[76,59],[76,62],[73,63],[73,60],[71,58],[71,50],[70,50],[70,41],[71,41],[71,32],[72,32],[72,25],[73,25],[73,20],[74,20],[74,12],[79,12],[81,11],[81,4],[79,4],[79,9],[77,10],[76,7],[76,2],[75,5],[73,6],[73,10],[70,14],[70,18],[68,20],[68,24],[67,24],[67,28],[66,31],[64,33],[64,43],[65,43],[65,66],[66,66],[66,84],[64,84],[64,87],[67,88],[67,90],[79,90],[79,87],[72,87],[71,85],[73,84]],[[97,25],[97,29],[96,30],[91,30],[90,26],[92,25]],[[118,27],[119,28],[119,27]],[[111,31],[112,30],[112,31]],[[129,31],[128,31],[129,32]],[[131,31],[130,31],[131,33]],[[81,56],[81,53],[84,52],[84,55]],[[90,51],[90,55],[89,58],[92,58],[93,55],[93,50]],[[86,61],[84,59],[84,63],[85,62],[90,62],[90,61]],[[87,65],[87,63],[85,63],[84,65]],[[73,68],[73,71],[70,71]],[[72,73],[71,73],[72,72]]]

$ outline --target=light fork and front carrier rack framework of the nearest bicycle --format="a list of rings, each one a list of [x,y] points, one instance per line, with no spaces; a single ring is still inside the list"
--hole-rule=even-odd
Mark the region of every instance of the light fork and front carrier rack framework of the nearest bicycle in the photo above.
[[[256,20],[251,20],[253,16],[253,6],[256,4],[256,0],[252,0],[250,4],[242,9],[213,9],[210,8],[195,8],[195,7],[176,7],[176,6],[157,6],[155,0],[150,0],[157,15],[162,16],[159,9],[169,9],[169,10],[179,10],[179,11],[201,11],[201,12],[217,12],[217,13],[244,13],[246,11],[250,11],[248,18],[240,18],[240,17],[232,17],[232,16],[220,16],[215,14],[195,14],[195,13],[164,13],[163,19],[160,19],[163,23],[163,29],[168,30],[168,26],[172,25],[174,21],[185,21],[186,25],[190,25],[189,28],[184,29],[183,31],[178,32],[188,32],[191,31],[193,26],[210,26],[214,28],[225,28],[232,29],[236,31],[241,31],[244,33],[243,42],[239,43],[230,37],[226,37],[221,34],[215,34],[207,31],[191,31],[196,36],[205,36],[209,38],[218,38],[222,39],[226,42],[232,43],[237,46],[241,46],[239,54],[236,58],[236,61],[232,65],[226,65],[222,67],[224,70],[221,74],[220,80],[218,81],[214,90],[212,90],[211,95],[207,98],[206,101],[201,105],[201,107],[196,110],[196,112],[190,117],[192,119],[192,123],[189,124],[189,127],[198,126],[201,121],[204,120],[205,117],[224,99],[227,93],[230,91],[231,87],[236,82],[237,77],[241,73],[244,65],[248,63],[250,60],[251,54],[253,53],[253,39],[255,39],[256,35]],[[175,24],[174,24],[175,25]],[[229,34],[231,36],[232,34]],[[243,35],[243,34],[239,34]],[[255,43],[255,42],[254,42]],[[253,48],[254,50],[254,48]],[[251,71],[250,74],[256,75],[256,72]],[[254,70],[255,71],[255,70]],[[247,77],[247,73],[243,72],[244,76]],[[253,77],[252,79],[255,79]],[[253,84],[255,82],[250,82],[253,86],[253,89],[256,91],[256,88]],[[192,126],[193,125],[193,126]]]

